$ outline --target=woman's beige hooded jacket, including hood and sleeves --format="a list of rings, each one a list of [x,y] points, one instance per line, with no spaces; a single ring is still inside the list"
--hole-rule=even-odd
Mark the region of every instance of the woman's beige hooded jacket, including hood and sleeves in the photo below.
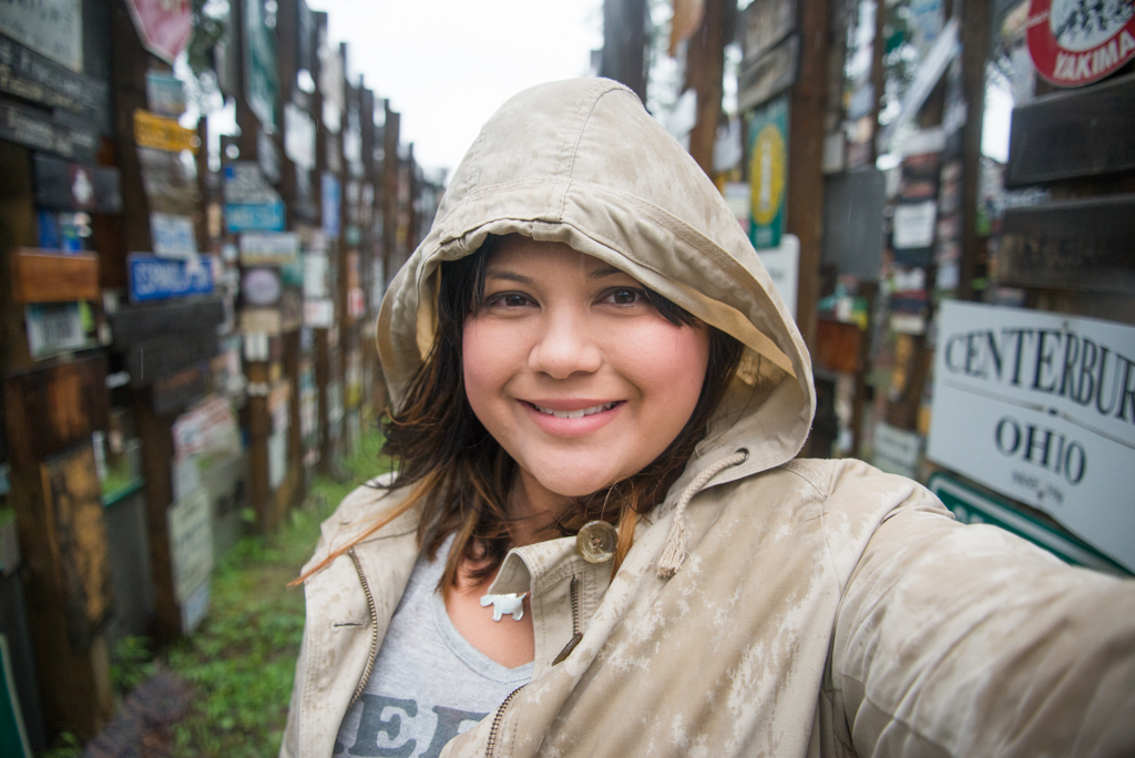
[[[573,538],[505,558],[488,591],[532,593],[533,680],[443,756],[1135,750],[1133,582],[959,524],[917,483],[861,462],[796,460],[815,409],[800,335],[720,193],[633,93],[541,85],[485,125],[382,302],[395,404],[431,347],[438,264],[489,234],[606,261],[745,352],[614,579]],[[400,497],[356,490],[309,565]],[[417,520],[306,581],[281,756],[331,753],[418,556]]]

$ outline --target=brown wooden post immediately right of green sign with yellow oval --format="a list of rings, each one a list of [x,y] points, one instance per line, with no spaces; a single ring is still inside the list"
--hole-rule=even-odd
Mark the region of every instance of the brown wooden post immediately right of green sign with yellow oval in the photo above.
[[[827,0],[799,0],[800,67],[789,100],[785,231],[800,239],[797,325],[809,349],[816,340],[816,301],[824,226],[824,104]]]

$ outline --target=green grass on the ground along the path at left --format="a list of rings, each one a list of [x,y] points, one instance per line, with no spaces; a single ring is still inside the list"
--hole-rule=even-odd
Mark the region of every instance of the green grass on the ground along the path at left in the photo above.
[[[271,538],[249,537],[217,565],[209,615],[201,628],[154,656],[150,642],[128,638],[116,650],[112,680],[123,694],[165,666],[194,689],[186,717],[167,736],[177,758],[264,758],[279,751],[295,660],[303,637],[301,588],[287,589],[311,557],[319,523],[358,485],[385,471],[378,432],[364,435],[336,481],[317,477],[306,502]],[[40,758],[81,755],[69,743]]]

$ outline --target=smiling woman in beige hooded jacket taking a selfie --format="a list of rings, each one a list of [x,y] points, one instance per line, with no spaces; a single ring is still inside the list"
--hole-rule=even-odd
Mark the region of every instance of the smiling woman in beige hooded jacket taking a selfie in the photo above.
[[[1135,590],[856,461],[619,84],[510,100],[382,303],[398,471],[304,568],[284,756],[1109,755]]]

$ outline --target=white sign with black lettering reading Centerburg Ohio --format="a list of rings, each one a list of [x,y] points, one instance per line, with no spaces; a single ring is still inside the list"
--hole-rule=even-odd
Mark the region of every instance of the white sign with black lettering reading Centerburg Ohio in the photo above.
[[[1135,328],[943,303],[926,454],[1135,570]]]

